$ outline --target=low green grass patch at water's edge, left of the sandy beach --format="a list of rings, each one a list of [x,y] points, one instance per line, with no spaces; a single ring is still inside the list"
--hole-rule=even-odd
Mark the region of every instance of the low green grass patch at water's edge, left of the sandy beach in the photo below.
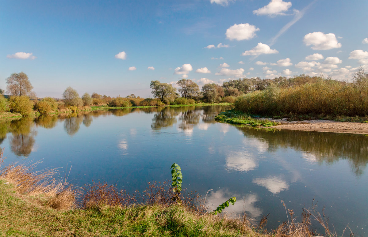
[[[245,114],[244,112],[236,111],[230,109],[224,112],[220,112],[219,115],[215,117],[215,120],[222,123],[231,123],[236,125],[248,125],[252,127],[270,127],[279,125],[280,123],[271,122],[267,119],[254,119],[251,116]]]

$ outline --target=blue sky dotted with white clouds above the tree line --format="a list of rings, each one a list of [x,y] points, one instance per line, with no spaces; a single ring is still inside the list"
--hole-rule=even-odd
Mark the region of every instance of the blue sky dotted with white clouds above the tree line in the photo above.
[[[198,85],[368,71],[368,1],[0,1],[0,87],[25,72],[38,97],[152,97]]]

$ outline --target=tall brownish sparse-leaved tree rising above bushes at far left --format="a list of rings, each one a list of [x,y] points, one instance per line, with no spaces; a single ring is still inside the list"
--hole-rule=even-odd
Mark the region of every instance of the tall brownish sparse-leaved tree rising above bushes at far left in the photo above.
[[[24,72],[13,73],[6,79],[6,90],[12,96],[29,96],[33,86]]]

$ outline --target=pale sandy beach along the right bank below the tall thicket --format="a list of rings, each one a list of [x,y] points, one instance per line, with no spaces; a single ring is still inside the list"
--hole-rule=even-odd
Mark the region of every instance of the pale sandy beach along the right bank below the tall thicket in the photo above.
[[[368,123],[335,122],[330,120],[287,121],[286,118],[268,119],[270,121],[281,123],[281,125],[271,126],[269,128],[316,132],[368,134]]]

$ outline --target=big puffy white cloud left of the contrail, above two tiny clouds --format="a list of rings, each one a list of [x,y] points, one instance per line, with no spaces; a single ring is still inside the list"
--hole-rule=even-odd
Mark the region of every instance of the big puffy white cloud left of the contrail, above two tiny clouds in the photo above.
[[[259,28],[248,23],[238,25],[234,24],[226,30],[225,35],[226,39],[230,40],[249,40],[256,36],[256,31],[259,31]]]

